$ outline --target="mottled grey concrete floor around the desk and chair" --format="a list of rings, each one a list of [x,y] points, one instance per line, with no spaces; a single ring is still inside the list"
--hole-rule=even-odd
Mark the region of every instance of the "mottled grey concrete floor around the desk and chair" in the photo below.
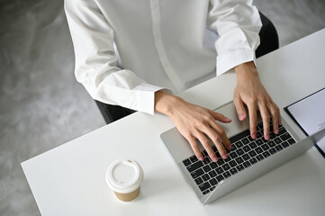
[[[324,0],[255,4],[282,46],[325,27]],[[40,215],[21,162],[104,120],[75,80],[62,1],[0,0],[0,48],[0,215]]]

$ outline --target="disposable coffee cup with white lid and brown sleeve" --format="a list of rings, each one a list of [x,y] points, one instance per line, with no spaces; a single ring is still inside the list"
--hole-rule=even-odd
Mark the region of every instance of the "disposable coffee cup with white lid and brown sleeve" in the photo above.
[[[141,166],[132,159],[114,160],[106,171],[106,183],[123,202],[130,202],[138,197],[142,178]]]

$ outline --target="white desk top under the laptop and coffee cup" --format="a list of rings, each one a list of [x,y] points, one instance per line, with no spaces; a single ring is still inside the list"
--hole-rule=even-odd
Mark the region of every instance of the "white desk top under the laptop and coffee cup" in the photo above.
[[[279,107],[325,86],[324,48],[322,30],[257,59],[262,82]],[[180,95],[214,109],[232,100],[235,83],[235,75],[229,73]],[[283,110],[282,114],[293,125]],[[316,148],[203,206],[159,138],[172,127],[164,115],[137,112],[23,162],[41,213],[324,215],[325,159]],[[106,167],[119,157],[137,160],[144,170],[140,197],[133,202],[118,201],[105,183]]]

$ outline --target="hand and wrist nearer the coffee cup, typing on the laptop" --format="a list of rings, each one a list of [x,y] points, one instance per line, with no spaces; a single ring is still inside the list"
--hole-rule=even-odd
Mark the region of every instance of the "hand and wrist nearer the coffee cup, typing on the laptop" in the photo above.
[[[201,142],[212,161],[218,161],[207,137],[212,139],[223,159],[228,157],[224,147],[231,149],[230,140],[216,120],[229,123],[231,121],[229,118],[161,91],[155,93],[155,110],[171,118],[177,130],[188,140],[199,160],[203,160],[203,155],[196,139]]]

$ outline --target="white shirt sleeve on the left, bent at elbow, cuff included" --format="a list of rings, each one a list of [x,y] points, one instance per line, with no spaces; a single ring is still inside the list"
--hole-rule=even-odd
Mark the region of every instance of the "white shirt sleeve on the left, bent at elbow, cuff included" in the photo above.
[[[97,101],[154,113],[155,92],[131,70],[117,67],[114,32],[95,1],[65,0],[75,50],[75,76]]]

